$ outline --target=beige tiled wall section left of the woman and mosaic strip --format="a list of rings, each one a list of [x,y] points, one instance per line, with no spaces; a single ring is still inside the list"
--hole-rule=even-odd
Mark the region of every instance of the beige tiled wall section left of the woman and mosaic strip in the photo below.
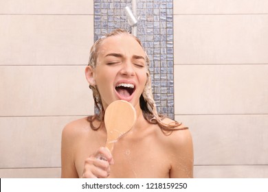
[[[0,178],[58,178],[63,127],[93,113],[93,1],[0,1],[0,28]]]

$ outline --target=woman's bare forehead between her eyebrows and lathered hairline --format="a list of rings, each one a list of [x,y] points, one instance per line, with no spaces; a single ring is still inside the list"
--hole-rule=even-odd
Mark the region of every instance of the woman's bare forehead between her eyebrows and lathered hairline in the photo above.
[[[129,34],[120,34],[105,38],[100,44],[98,53],[104,56],[108,53],[122,53],[144,56],[145,52],[137,40]]]

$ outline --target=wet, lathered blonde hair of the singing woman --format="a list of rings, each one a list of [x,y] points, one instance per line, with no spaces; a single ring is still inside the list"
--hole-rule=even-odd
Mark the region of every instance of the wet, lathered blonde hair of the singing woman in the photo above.
[[[170,131],[170,130],[187,129],[187,128],[177,128],[177,127],[179,127],[179,125],[181,125],[181,123],[179,123],[177,121],[173,121],[171,124],[164,123],[163,119],[165,119],[166,117],[164,117],[164,115],[158,114],[157,107],[155,105],[155,100],[153,99],[152,82],[151,82],[150,71],[149,71],[149,58],[148,58],[148,55],[147,55],[144,47],[142,46],[142,43],[140,42],[140,40],[136,36],[133,36],[133,34],[130,34],[129,32],[127,32],[124,29],[115,29],[115,30],[113,30],[113,32],[106,34],[105,36],[102,36],[91,47],[88,65],[91,66],[93,69],[95,69],[96,64],[97,64],[98,51],[99,51],[100,46],[102,45],[102,42],[104,39],[109,38],[110,36],[120,36],[120,35],[129,35],[129,36],[132,36],[135,40],[137,40],[137,43],[139,43],[139,45],[142,47],[142,49],[144,50],[145,56],[146,56],[147,81],[146,81],[146,84],[144,86],[144,91],[143,91],[142,95],[139,97],[139,106],[142,109],[142,114],[143,114],[144,118],[149,123],[158,124],[159,127],[161,128],[161,130],[164,132]],[[102,100],[100,97],[100,92],[98,91],[98,86],[97,85],[96,86],[89,85],[89,88],[91,88],[91,90],[93,92],[93,99],[94,99],[96,108],[98,108],[98,110],[99,110],[99,113],[95,114],[93,116],[89,116],[87,118],[87,120],[91,123],[91,128],[93,130],[98,130],[100,128],[100,126],[102,125],[102,123],[104,122],[105,111],[104,111],[104,108],[102,106]],[[98,127],[95,127],[93,125],[93,121],[96,118],[101,122]]]

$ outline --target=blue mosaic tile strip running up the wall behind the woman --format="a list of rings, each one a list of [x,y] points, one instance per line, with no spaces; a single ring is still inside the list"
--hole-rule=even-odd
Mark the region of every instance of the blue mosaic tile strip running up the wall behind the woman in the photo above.
[[[150,73],[157,110],[174,119],[173,82],[173,2],[172,0],[136,1],[137,37],[150,58]],[[94,40],[115,28],[131,32],[124,8],[131,0],[94,1]]]

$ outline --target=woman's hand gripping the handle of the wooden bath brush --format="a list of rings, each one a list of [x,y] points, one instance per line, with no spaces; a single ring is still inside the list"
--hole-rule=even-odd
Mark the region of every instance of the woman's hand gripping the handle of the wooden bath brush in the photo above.
[[[107,147],[100,147],[96,153],[85,160],[82,178],[108,178],[113,156]]]

